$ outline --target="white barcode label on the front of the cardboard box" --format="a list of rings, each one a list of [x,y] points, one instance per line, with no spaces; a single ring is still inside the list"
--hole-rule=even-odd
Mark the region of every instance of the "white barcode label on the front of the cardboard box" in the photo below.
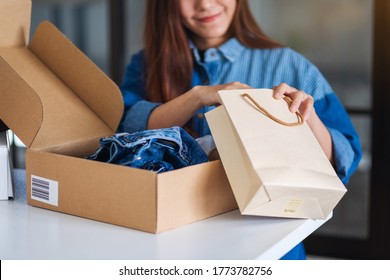
[[[58,182],[32,175],[31,199],[58,206]]]

